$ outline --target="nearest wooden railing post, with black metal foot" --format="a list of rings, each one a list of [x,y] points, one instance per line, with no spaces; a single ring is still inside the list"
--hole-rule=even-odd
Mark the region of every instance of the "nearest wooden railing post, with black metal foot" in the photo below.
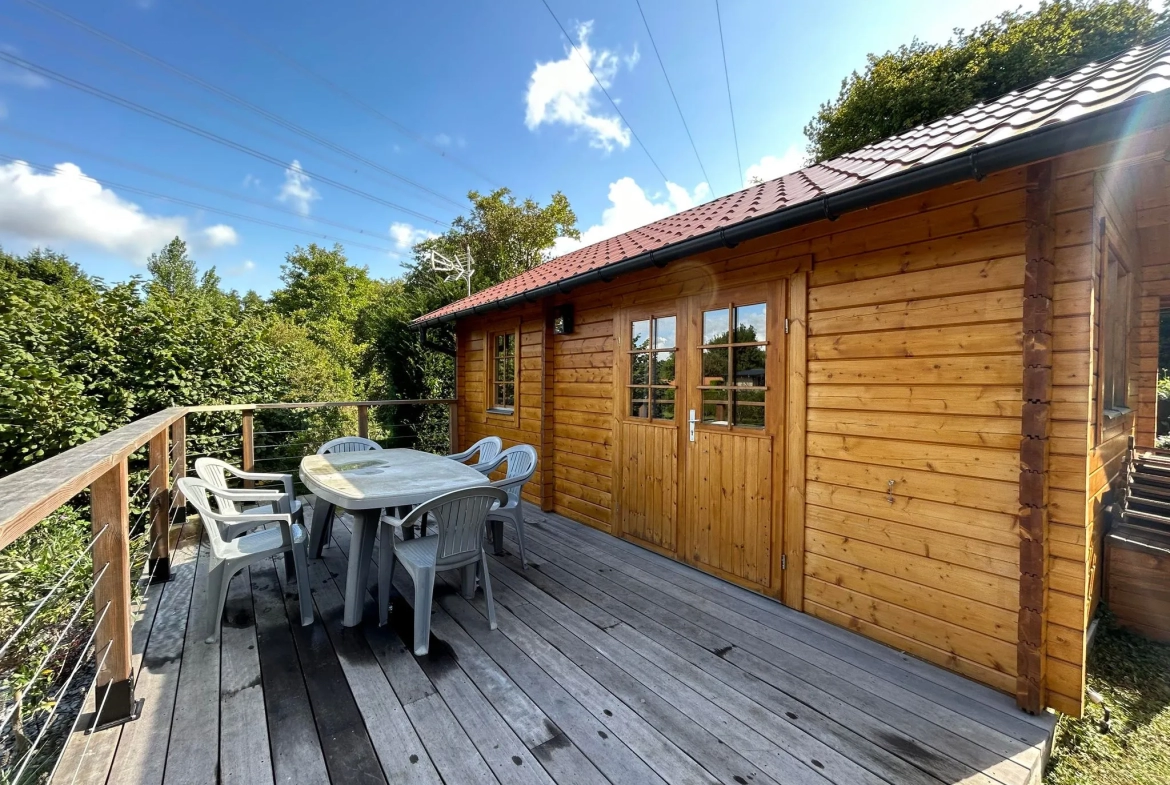
[[[94,638],[102,668],[95,676],[97,714],[94,728],[138,716],[135,701],[130,639],[130,481],[126,459],[115,463],[90,486],[94,525],[94,613],[102,618]],[[98,578],[101,576],[101,578]],[[106,650],[109,649],[109,650]]]

